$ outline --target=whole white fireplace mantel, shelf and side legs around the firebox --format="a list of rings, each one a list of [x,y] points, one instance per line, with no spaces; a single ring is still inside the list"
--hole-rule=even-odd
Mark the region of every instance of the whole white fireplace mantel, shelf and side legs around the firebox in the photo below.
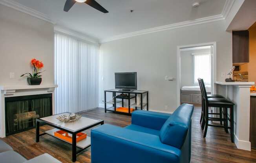
[[[52,112],[55,113],[54,91],[58,85],[0,85],[0,138],[5,137],[5,98],[36,94],[52,94]]]

